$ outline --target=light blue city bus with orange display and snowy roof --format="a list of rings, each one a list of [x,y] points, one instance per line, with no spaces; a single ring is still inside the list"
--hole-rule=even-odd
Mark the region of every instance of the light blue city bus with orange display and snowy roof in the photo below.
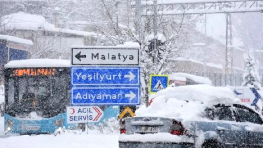
[[[48,134],[67,124],[70,105],[70,61],[13,60],[4,66],[4,131]]]

